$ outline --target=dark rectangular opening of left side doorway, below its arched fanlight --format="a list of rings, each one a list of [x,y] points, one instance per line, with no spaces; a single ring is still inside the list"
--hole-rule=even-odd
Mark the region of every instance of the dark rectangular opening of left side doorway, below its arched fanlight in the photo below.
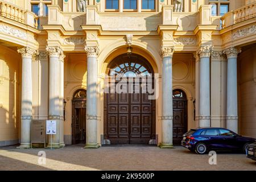
[[[72,144],[85,143],[86,101],[72,101]]]

